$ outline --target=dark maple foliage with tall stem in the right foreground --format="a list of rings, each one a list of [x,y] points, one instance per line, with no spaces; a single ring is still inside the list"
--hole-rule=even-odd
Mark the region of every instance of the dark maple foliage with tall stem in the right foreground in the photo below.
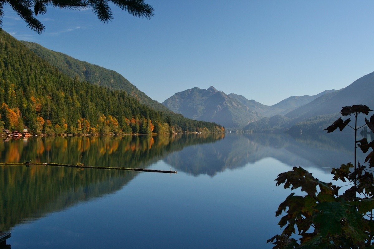
[[[371,151],[365,159],[368,167],[356,164],[357,148],[364,153],[374,150],[374,141],[357,140],[357,131],[365,125],[374,132],[374,115],[370,121],[365,118],[364,126],[357,127],[359,113],[368,115],[370,111],[365,105],[343,107],[341,115],[354,115],[355,126],[349,125],[350,118],[345,121],[339,118],[325,129],[329,133],[337,128],[342,131],[348,126],[355,131],[355,164],[342,164],[331,171],[333,180],[349,184],[337,186],[319,181],[301,167],[278,175],[276,186],[284,184],[285,189],[291,190],[301,188],[306,195],[291,193],[279,205],[276,216],[285,215],[278,224],[285,228],[282,234],[267,240],[275,245],[273,249],[374,248],[374,171],[369,169],[374,166],[374,152]],[[339,193],[345,186],[351,187]]]

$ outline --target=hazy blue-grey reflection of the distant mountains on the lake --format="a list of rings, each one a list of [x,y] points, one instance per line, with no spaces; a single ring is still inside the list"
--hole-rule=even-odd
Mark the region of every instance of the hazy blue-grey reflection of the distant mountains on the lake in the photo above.
[[[373,135],[368,140],[372,140]],[[255,164],[274,158],[289,166],[314,167],[331,171],[332,167],[352,162],[352,134],[298,135],[229,134],[219,143],[187,147],[163,160],[179,171],[197,176],[214,176],[225,169]],[[362,153],[358,151],[358,158]]]

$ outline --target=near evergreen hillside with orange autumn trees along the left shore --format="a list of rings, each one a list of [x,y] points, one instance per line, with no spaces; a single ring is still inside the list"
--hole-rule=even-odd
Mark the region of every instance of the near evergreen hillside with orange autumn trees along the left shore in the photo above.
[[[223,131],[217,124],[155,111],[125,90],[73,79],[4,31],[0,31],[0,118],[0,126],[9,130],[27,126],[47,134]]]

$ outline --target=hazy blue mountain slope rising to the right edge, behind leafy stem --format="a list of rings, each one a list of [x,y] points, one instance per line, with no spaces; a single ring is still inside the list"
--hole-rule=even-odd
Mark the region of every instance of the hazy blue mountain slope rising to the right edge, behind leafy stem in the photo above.
[[[340,116],[339,112],[343,106],[362,104],[373,109],[373,96],[374,72],[359,78],[343,89],[324,94],[312,102],[286,113],[286,122],[281,126],[271,126],[269,124],[267,126],[272,130],[288,130],[292,133],[300,132],[300,130],[303,132],[322,132],[324,128],[331,125]],[[265,120],[254,122],[246,126],[245,129],[259,130],[257,127],[264,125],[264,122]],[[359,120],[359,122],[359,124],[363,124],[362,120]]]

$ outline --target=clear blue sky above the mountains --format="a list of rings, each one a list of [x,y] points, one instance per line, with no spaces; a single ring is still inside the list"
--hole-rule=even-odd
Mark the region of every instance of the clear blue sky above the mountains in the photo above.
[[[113,6],[49,7],[34,33],[8,6],[2,28],[80,60],[119,72],[163,102],[213,85],[273,105],[289,96],[346,87],[374,71],[374,1],[148,0],[151,19]]]

